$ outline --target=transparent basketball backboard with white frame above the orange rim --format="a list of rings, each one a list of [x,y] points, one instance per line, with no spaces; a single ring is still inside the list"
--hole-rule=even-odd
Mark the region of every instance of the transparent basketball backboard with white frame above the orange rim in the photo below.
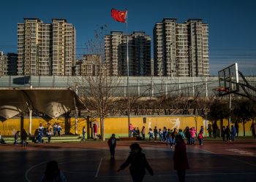
[[[238,92],[238,64],[234,63],[227,68],[218,72],[219,76],[219,95],[227,95],[233,92]]]

